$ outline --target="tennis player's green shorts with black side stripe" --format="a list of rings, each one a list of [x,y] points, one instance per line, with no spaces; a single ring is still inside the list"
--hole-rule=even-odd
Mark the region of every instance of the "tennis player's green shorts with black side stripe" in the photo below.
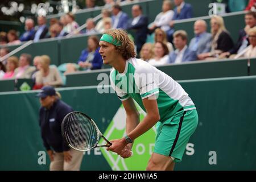
[[[189,138],[196,130],[198,115],[196,109],[179,111],[156,126],[156,154],[171,156],[174,162],[181,162]]]

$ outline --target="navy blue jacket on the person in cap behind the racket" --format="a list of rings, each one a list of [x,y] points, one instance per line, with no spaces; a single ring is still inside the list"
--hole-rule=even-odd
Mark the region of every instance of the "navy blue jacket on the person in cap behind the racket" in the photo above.
[[[55,152],[69,150],[67,143],[61,135],[61,122],[65,115],[72,111],[72,107],[61,100],[57,100],[49,110],[45,107],[40,108],[39,126],[46,150],[53,150]]]

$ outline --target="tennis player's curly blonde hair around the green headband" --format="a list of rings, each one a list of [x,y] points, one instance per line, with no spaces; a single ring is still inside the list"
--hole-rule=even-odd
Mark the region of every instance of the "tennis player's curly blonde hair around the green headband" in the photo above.
[[[117,49],[123,59],[130,59],[131,57],[136,57],[134,42],[131,40],[125,30],[122,29],[111,29],[106,30],[104,34],[108,34],[110,36],[113,36],[114,39],[117,40],[117,42],[121,42],[121,46],[115,46],[115,49]]]

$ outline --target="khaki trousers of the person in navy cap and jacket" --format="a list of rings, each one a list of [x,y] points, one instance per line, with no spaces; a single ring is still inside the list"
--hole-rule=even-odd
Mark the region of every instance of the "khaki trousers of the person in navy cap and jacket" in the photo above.
[[[69,162],[64,161],[63,152],[55,152],[53,155],[53,161],[49,166],[50,171],[80,171],[84,152],[76,151],[72,148],[69,152],[72,156],[72,159]]]

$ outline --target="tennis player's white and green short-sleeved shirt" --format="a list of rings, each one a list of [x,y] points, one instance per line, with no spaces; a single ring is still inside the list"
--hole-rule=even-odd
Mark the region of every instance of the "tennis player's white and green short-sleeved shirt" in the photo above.
[[[144,111],[146,109],[142,100],[155,95],[160,122],[172,117],[177,111],[196,109],[179,83],[141,59],[127,60],[123,73],[112,69],[110,82],[120,100],[124,101],[131,97]]]

